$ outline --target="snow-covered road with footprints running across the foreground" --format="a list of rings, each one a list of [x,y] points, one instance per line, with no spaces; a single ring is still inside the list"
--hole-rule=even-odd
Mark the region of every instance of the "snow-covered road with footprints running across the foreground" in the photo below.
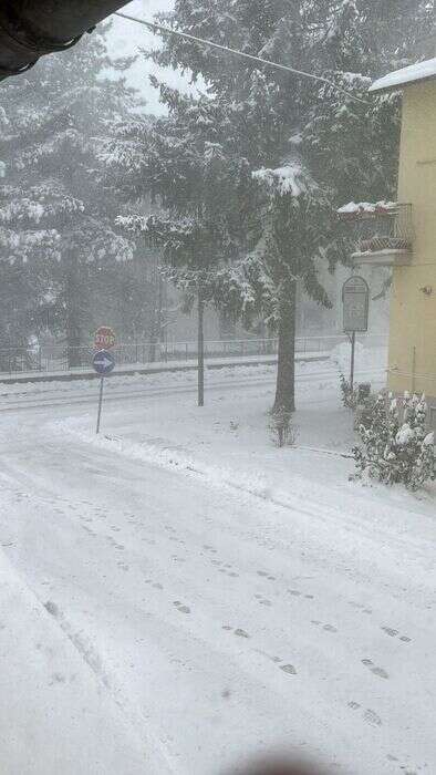
[[[117,433],[141,422],[141,402],[105,411]],[[436,772],[419,526],[403,539],[340,503],[278,505],[135,459],[50,424],[71,413],[1,418],[1,544],[120,723],[156,752],[145,773],[212,775],[283,746],[355,775]],[[40,753],[29,773],[61,772]]]

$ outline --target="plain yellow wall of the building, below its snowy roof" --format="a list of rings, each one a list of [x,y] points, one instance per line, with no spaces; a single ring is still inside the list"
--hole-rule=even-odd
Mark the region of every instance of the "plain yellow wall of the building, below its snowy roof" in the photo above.
[[[436,80],[404,90],[398,202],[413,206],[414,251],[394,269],[388,386],[426,393],[436,426]]]

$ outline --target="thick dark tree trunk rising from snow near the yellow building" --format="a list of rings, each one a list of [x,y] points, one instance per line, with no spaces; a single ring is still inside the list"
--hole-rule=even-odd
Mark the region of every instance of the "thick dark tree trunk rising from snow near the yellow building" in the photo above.
[[[295,307],[297,282],[291,282],[281,302],[279,322],[279,352],[273,412],[281,409],[295,411]]]

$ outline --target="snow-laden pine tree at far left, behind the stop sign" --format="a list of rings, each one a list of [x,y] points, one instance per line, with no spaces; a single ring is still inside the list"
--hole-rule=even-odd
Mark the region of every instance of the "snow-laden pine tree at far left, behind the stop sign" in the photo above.
[[[50,277],[51,318],[62,320],[70,365],[80,363],[92,326],[98,272],[133,255],[131,240],[113,229],[117,192],[105,185],[98,149],[137,100],[123,78],[104,76],[129,65],[108,59],[104,31],[1,86],[0,258],[30,268],[37,306],[46,306]]]

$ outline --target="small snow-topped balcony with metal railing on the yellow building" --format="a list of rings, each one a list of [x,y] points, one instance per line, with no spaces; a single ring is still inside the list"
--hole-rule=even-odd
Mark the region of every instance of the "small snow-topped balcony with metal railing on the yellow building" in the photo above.
[[[338,215],[350,224],[355,266],[407,266],[413,256],[412,205],[351,203]]]

